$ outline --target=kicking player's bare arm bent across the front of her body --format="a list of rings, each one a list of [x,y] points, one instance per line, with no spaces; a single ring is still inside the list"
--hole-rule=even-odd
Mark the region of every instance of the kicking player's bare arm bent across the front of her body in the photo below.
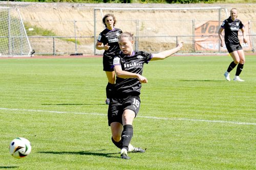
[[[128,79],[128,78],[137,78],[140,83],[147,83],[147,79],[140,74],[136,74],[129,71],[122,70],[122,67],[120,65],[114,66],[115,74],[117,77],[122,79]]]

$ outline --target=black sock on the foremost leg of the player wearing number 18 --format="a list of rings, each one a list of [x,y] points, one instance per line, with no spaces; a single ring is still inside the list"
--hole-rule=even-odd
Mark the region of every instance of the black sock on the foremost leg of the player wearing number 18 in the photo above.
[[[124,125],[122,132],[122,148],[128,150],[129,143],[131,142],[133,137],[133,126],[132,125]]]

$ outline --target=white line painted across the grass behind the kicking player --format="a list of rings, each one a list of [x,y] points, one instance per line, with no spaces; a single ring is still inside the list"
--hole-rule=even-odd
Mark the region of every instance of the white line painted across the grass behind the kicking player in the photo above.
[[[58,113],[58,114],[88,114],[88,115],[106,116],[106,114],[101,114],[101,113],[64,112],[64,111],[49,111],[49,110],[10,109],[10,108],[0,108],[0,110],[26,111],[26,112],[47,112],[47,113]],[[189,119],[189,118],[166,118],[166,117],[152,117],[152,116],[137,116],[137,117],[150,118],[150,119],[160,119],[160,120],[183,120],[183,121],[191,121],[191,122],[209,122],[209,123],[223,123],[223,124],[236,124],[236,125],[256,125],[256,123],[232,122],[232,121],[223,121],[223,120],[204,120],[204,119]]]

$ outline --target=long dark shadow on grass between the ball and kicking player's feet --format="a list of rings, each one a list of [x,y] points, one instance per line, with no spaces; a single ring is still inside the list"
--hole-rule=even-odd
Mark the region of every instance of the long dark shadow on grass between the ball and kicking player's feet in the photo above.
[[[100,153],[100,151],[79,151],[79,152],[57,152],[57,151],[44,151],[44,152],[38,152],[41,154],[58,154],[58,155],[93,155],[93,156],[103,156],[108,158],[119,158],[119,153]]]

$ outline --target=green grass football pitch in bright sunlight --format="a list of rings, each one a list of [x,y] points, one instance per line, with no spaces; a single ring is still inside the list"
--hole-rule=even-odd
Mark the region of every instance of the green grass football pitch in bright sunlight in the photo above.
[[[227,82],[228,56],[144,66],[132,144],[111,142],[101,58],[0,59],[0,169],[256,169],[256,56]],[[233,78],[236,69],[231,72]],[[9,154],[25,137],[32,152]]]

